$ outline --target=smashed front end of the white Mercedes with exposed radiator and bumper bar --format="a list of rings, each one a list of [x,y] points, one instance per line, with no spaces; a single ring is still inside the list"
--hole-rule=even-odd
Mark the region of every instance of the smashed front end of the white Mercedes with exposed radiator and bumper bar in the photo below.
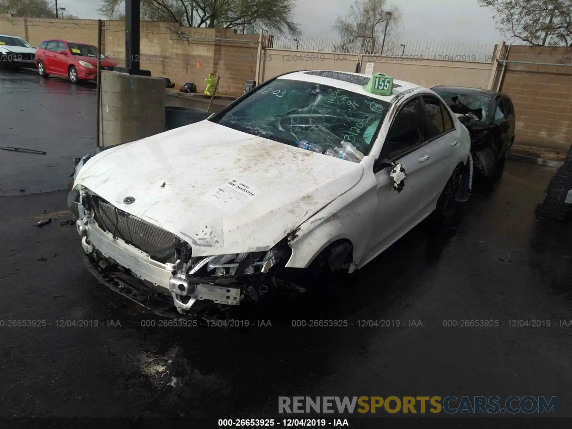
[[[292,251],[287,239],[267,251],[193,257],[192,247],[176,235],[88,189],[72,192],[89,270],[160,315],[192,315],[212,305],[224,309],[257,301],[281,285],[295,288],[281,279]]]

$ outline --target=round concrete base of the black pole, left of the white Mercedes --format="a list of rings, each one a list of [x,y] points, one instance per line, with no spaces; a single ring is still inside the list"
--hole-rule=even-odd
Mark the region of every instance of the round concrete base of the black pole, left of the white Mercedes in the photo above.
[[[165,131],[165,81],[101,72],[99,146],[114,146]]]

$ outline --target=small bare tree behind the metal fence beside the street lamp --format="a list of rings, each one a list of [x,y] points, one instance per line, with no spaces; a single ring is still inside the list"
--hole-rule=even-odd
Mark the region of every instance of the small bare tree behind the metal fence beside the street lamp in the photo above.
[[[348,50],[358,43],[364,53],[382,53],[383,45],[396,37],[400,19],[397,7],[387,0],[354,0],[345,18],[336,19],[334,28],[346,42],[335,49]]]

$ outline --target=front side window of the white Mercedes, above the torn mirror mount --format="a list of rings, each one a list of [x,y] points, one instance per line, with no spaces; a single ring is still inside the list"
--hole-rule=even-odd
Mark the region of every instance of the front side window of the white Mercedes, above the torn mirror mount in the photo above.
[[[395,160],[423,142],[419,97],[399,111],[383,144],[382,158]]]

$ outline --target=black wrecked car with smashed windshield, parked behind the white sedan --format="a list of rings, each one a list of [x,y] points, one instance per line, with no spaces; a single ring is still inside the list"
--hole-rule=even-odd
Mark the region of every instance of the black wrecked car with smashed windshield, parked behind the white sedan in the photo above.
[[[488,181],[499,177],[514,142],[513,102],[506,94],[462,86],[435,86],[434,90],[471,134],[475,166]]]

